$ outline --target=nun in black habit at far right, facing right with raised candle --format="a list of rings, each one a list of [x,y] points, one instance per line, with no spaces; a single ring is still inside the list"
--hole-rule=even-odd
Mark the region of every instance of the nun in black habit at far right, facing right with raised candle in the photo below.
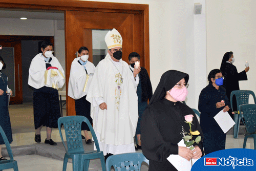
[[[234,90],[239,89],[239,82],[247,80],[246,72],[249,71],[249,67],[245,68],[244,71],[238,73],[237,67],[233,65],[234,56],[233,52],[226,52],[221,62],[221,72],[224,76],[223,87],[226,89],[227,97],[230,101],[230,94]],[[233,96],[233,111],[237,111],[237,100]],[[233,118],[233,115],[230,115]]]

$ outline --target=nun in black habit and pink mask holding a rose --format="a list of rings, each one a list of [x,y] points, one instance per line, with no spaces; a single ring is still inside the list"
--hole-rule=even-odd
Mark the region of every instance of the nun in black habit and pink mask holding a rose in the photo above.
[[[145,157],[150,160],[149,170],[177,170],[167,158],[170,155],[180,155],[190,160],[203,155],[203,134],[193,110],[183,101],[187,95],[188,74],[169,70],[165,72],[157,86],[149,105],[142,115],[141,146]],[[192,131],[199,131],[202,137],[199,144],[193,144],[193,152],[178,143],[185,132],[189,132],[189,124],[185,123],[186,115],[194,115]],[[197,136],[193,136],[195,140]]]

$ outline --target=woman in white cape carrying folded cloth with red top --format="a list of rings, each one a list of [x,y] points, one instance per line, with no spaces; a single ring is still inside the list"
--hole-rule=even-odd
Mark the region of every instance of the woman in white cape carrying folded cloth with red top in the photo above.
[[[41,43],[41,52],[31,61],[28,84],[34,90],[33,109],[35,142],[41,142],[41,129],[46,126],[46,144],[57,145],[51,139],[52,128],[58,127],[60,117],[58,89],[65,83],[65,72],[58,59],[53,56],[53,45]]]

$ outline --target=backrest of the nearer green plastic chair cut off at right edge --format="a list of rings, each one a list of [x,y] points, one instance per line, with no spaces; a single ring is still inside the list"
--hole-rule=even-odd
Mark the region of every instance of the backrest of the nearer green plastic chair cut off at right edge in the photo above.
[[[239,106],[239,111],[243,112],[245,128],[247,133],[256,131],[256,104],[242,104]]]

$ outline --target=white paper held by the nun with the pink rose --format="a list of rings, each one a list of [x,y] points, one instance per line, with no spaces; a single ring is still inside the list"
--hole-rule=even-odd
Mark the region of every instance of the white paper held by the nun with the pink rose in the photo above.
[[[179,143],[178,146],[186,146],[184,143],[184,140],[182,139]],[[199,158],[200,159],[200,158]],[[187,161],[183,157],[179,155],[170,155],[167,160],[174,165],[174,167],[178,171],[190,171],[191,170],[191,161]],[[192,159],[193,164],[197,161],[198,159]]]

